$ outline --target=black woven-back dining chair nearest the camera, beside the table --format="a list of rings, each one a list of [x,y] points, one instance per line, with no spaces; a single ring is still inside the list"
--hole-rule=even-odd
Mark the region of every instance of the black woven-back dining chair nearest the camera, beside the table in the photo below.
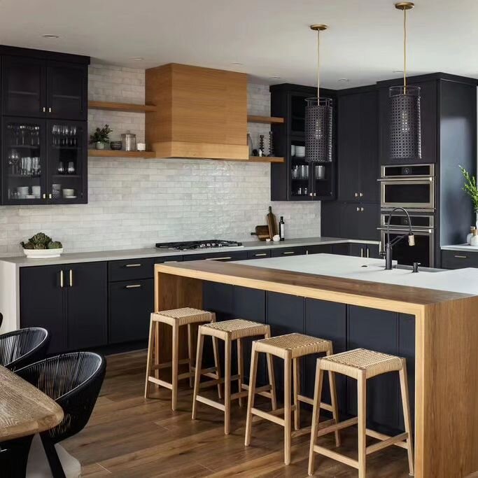
[[[63,409],[62,422],[40,434],[55,478],[65,477],[55,444],[83,430],[97,401],[105,372],[106,359],[93,352],[64,353],[16,371],[17,375],[39,388]],[[3,445],[8,450],[12,442]]]

